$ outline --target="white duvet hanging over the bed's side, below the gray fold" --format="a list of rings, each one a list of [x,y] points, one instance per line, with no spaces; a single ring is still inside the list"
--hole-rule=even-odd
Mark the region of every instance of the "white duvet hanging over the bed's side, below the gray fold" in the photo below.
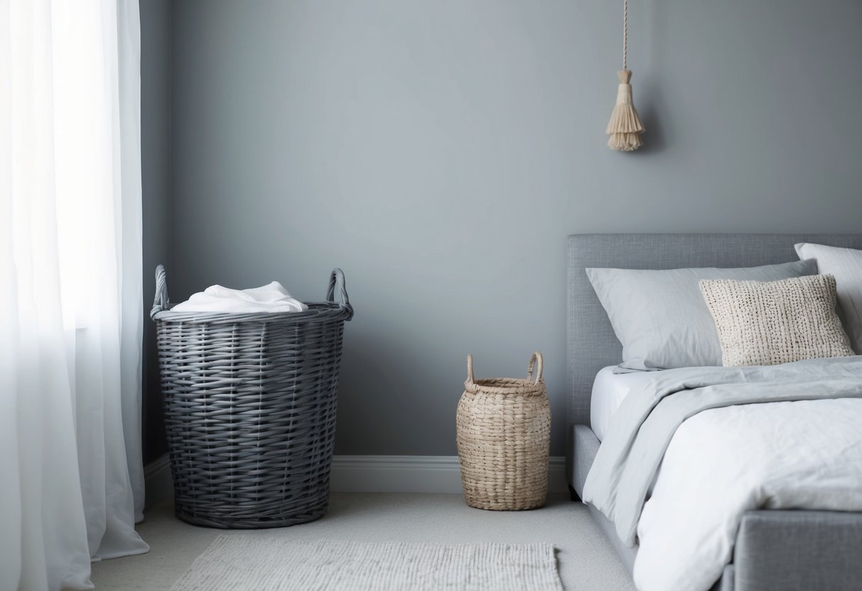
[[[862,399],[746,404],[685,420],[640,514],[635,586],[709,589],[742,514],[759,508],[862,511]]]

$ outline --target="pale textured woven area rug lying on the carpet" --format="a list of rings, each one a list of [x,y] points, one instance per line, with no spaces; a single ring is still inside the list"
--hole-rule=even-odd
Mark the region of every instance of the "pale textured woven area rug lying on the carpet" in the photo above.
[[[366,544],[222,534],[172,591],[562,588],[553,544]]]

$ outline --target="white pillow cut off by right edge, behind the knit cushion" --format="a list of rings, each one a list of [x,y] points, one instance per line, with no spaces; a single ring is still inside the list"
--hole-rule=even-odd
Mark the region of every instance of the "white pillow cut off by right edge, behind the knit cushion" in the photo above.
[[[800,242],[799,258],[814,258],[817,272],[834,275],[838,289],[838,317],[857,355],[862,354],[862,251]]]

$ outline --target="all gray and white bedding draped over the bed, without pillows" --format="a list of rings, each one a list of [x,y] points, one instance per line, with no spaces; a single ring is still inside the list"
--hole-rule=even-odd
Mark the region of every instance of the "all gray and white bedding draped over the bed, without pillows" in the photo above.
[[[862,510],[859,425],[862,357],[654,372],[616,410],[583,498],[640,542],[641,591],[706,591],[746,511]]]

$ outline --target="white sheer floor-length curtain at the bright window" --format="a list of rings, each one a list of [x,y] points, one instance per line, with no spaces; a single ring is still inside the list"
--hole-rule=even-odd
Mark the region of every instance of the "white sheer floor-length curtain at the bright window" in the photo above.
[[[0,589],[148,550],[137,0],[0,0]]]

